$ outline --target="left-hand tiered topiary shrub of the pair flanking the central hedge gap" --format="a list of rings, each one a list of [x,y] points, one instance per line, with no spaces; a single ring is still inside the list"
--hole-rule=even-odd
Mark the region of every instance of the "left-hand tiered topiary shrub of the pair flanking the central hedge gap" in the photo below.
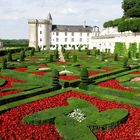
[[[60,87],[59,72],[56,69],[52,71],[52,87]]]

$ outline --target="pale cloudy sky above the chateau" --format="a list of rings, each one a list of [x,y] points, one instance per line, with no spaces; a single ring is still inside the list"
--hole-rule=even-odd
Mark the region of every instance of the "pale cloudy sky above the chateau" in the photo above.
[[[122,16],[123,0],[0,0],[0,38],[28,38],[28,19],[52,14],[54,24],[102,27]]]

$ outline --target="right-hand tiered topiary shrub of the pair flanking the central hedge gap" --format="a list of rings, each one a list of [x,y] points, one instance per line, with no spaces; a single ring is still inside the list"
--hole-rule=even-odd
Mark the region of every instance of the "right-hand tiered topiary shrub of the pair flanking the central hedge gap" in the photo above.
[[[89,84],[89,76],[88,76],[88,70],[87,68],[83,68],[81,71],[81,82],[79,85],[80,89],[88,89],[88,84]]]

